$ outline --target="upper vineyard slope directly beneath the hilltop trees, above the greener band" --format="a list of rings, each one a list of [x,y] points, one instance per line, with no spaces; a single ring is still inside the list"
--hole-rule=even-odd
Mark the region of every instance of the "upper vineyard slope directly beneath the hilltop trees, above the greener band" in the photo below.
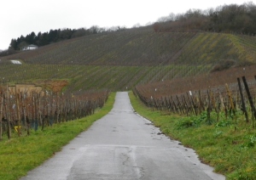
[[[79,37],[21,52],[3,59],[40,65],[216,65],[232,59],[236,65],[254,62],[255,37],[211,32],[127,30]],[[255,63],[255,62],[254,62]]]

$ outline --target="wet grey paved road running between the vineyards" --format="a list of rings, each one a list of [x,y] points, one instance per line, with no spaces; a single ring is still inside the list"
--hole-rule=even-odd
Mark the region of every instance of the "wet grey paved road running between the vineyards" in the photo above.
[[[134,113],[127,93],[117,93],[108,115],[21,179],[224,179],[178,143]]]

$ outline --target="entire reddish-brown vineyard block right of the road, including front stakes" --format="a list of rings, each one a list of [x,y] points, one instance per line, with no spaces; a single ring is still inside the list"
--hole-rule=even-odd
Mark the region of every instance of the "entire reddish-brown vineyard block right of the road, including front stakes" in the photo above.
[[[226,76],[229,74],[231,76]],[[255,127],[254,74],[255,66],[236,68],[208,76],[138,85],[133,92],[153,110],[181,115],[201,115],[207,112],[207,121],[211,121],[212,112],[218,115],[224,112],[227,120],[228,116],[234,117],[237,111],[241,111],[246,121],[251,119],[252,126]],[[219,119],[217,116],[217,121]]]

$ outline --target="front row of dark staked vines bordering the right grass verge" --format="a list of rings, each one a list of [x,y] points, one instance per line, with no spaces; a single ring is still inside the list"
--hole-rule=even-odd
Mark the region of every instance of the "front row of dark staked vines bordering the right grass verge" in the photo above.
[[[256,76],[254,78],[256,80]],[[255,90],[255,81],[248,83],[246,77],[242,76],[237,78],[237,83],[185,93],[166,92],[165,95],[157,95],[156,88],[153,94],[143,86],[135,87],[133,93],[152,110],[170,111],[181,115],[201,115],[206,111],[207,120],[210,120],[211,112],[214,111],[218,115],[217,121],[221,111],[224,111],[227,120],[229,115],[236,115],[236,111],[241,110],[247,122],[249,122],[248,114],[251,112],[253,124],[253,120],[256,119]]]

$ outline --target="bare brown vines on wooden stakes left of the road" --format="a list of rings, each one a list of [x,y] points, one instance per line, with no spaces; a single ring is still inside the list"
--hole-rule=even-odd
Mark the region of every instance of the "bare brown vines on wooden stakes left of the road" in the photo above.
[[[102,108],[108,99],[108,91],[87,93],[49,92],[32,84],[3,87],[0,91],[1,117],[0,139],[3,134],[8,138],[12,132],[20,136],[30,134],[31,129],[38,131],[44,127],[65,121],[74,121],[92,115]]]

